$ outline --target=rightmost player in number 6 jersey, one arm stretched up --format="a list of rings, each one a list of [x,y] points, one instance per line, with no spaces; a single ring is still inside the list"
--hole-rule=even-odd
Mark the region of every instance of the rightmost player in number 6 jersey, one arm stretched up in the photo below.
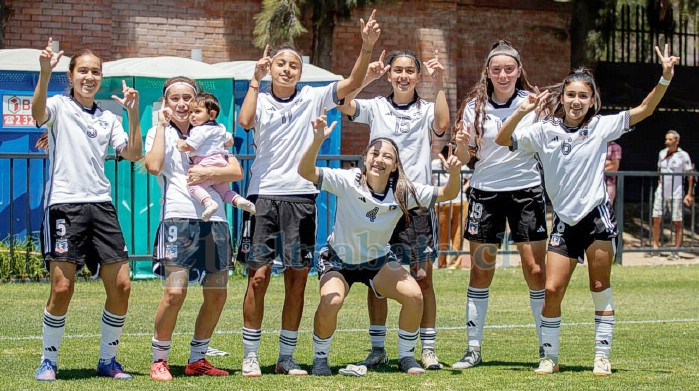
[[[590,291],[595,305],[596,351],[592,373],[612,373],[609,355],[614,329],[614,303],[610,274],[614,259],[616,219],[606,192],[604,163],[607,143],[632,130],[632,126],[653,114],[665,95],[679,57],[660,57],[663,74],[643,102],[628,111],[600,116],[597,84],[587,69],[579,69],[563,82],[541,94],[530,94],[507,119],[495,139],[513,151],[537,153],[544,167],[546,190],[553,204],[554,221],[548,244],[546,297],[541,313],[544,357],[537,374],[558,372],[558,342],[561,301],[578,263],[587,256]],[[537,104],[553,99],[551,113],[544,121],[517,129],[517,124]]]

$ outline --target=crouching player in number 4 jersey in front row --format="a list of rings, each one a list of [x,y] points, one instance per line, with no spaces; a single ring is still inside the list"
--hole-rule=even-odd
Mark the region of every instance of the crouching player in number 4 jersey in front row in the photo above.
[[[318,262],[321,299],[313,322],[313,374],[332,374],[328,354],[337,313],[355,282],[367,285],[377,297],[401,304],[398,365],[408,374],[424,373],[413,353],[422,318],[421,289],[397,262],[388,241],[401,217],[412,218],[410,209],[431,209],[435,201],[457,195],[461,162],[455,156],[442,158],[450,174],[442,187],[413,184],[403,172],[396,143],[379,137],[369,143],[362,170],[318,168],[315,160],[320,145],[335,124],[328,128],[323,115],[313,126],[314,138],[301,158],[299,174],[319,189],[337,195],[335,226]]]

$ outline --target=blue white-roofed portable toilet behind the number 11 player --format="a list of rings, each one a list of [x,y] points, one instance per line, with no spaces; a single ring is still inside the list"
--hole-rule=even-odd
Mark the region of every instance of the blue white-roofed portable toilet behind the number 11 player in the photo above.
[[[247,93],[248,86],[250,85],[250,80],[255,73],[255,64],[257,61],[231,61],[231,62],[220,62],[213,64],[216,68],[225,71],[229,77],[233,78],[234,85],[234,97],[235,97],[235,113],[240,111],[240,106],[243,104],[245,99],[245,94]],[[303,64],[303,70],[301,72],[301,79],[299,80],[298,86],[302,88],[303,86],[324,86],[333,83],[338,80],[342,80],[343,77],[329,72],[323,68],[317,67],[313,64]],[[271,78],[269,75],[262,79],[260,85],[260,91],[269,91],[271,85]],[[318,113],[320,114],[320,113]],[[341,113],[337,109],[332,109],[328,111],[328,123],[337,121],[337,126],[333,130],[330,137],[325,140],[320,149],[321,155],[340,155],[341,139],[342,139],[342,121]],[[236,121],[236,132],[235,132],[235,146],[238,153],[250,154],[255,153],[253,145],[253,134],[252,132],[246,132]],[[318,164],[324,164],[325,162],[319,161]],[[243,186],[247,191],[247,184],[249,183],[250,176],[250,166],[251,161],[246,162],[243,165],[245,172],[245,178],[243,179]],[[335,161],[331,162],[332,167],[340,167],[340,163]],[[316,249],[320,249],[327,243],[328,235],[330,234],[330,228],[335,221],[335,196],[328,194],[327,192],[321,193],[317,200],[318,206],[318,231],[317,231],[317,245]]]

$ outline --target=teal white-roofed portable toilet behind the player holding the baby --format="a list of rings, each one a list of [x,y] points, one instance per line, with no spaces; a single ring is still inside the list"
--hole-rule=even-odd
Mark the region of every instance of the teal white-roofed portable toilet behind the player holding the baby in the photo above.
[[[141,131],[144,146],[148,130],[157,123],[162,104],[163,83],[175,76],[186,76],[197,81],[203,91],[214,94],[221,104],[218,122],[233,129],[233,83],[227,74],[200,61],[182,57],[125,58],[103,64],[104,78],[97,99],[102,107],[115,114],[123,115],[122,123],[127,124],[127,113],[111,99],[121,96],[122,80],[139,91]],[[132,277],[134,279],[154,277],[151,267],[155,232],[160,223],[160,187],[156,177],[145,170],[131,169],[127,161],[107,162],[107,177],[112,180],[112,198],[119,216],[130,254],[133,257]],[[236,227],[238,209],[227,206],[227,215],[232,227]]]

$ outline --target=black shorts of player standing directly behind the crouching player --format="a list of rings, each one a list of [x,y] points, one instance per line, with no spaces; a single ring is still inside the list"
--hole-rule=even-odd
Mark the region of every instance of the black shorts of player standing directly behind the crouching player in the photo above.
[[[413,208],[410,213],[410,222],[406,223],[401,216],[389,244],[391,252],[403,265],[411,265],[414,269],[417,265],[424,265],[434,261],[437,251],[434,234],[434,210]]]

